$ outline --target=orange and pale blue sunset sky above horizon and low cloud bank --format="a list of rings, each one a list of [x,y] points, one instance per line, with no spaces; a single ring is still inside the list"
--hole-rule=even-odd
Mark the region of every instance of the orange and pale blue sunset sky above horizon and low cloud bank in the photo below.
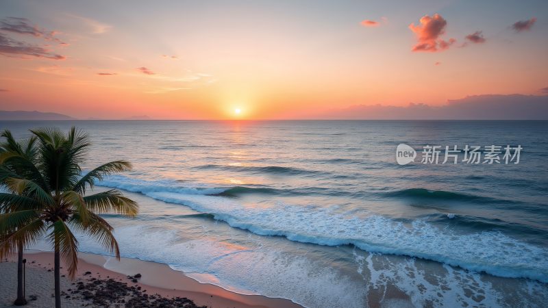
[[[547,55],[545,0],[3,0],[0,110],[279,119],[543,95]]]

